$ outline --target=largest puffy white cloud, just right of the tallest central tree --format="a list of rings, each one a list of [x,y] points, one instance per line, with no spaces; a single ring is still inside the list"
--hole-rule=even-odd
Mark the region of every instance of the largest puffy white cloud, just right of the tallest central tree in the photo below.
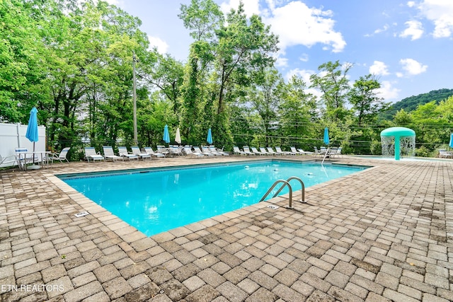
[[[271,25],[273,33],[279,36],[283,53],[289,46],[311,47],[318,43],[327,45],[325,48],[333,52],[342,52],[346,42],[343,35],[333,29],[336,22],[332,15],[332,11],[309,8],[301,1],[292,1],[274,8],[263,21]]]

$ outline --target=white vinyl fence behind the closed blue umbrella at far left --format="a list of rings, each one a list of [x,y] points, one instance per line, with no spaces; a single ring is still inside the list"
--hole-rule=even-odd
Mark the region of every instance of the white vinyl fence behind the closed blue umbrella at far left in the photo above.
[[[33,151],[33,142],[25,137],[27,133],[26,124],[4,124],[0,123],[0,155],[14,156],[16,148],[27,148]],[[45,126],[38,126],[39,139],[35,142],[35,151],[45,151]],[[7,161],[13,158],[8,158]],[[1,167],[7,167],[13,163],[1,164]]]

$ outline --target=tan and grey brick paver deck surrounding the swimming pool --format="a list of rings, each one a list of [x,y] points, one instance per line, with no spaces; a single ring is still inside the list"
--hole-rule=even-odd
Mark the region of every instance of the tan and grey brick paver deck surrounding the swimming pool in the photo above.
[[[244,159],[0,171],[0,301],[453,301],[452,160],[335,158],[374,167],[150,238],[55,177]]]

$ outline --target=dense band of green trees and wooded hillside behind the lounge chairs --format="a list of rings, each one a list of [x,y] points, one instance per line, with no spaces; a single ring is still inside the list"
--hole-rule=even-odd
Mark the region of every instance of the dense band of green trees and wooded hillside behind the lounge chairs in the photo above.
[[[389,107],[380,83],[369,74],[351,81],[352,64],[321,64],[310,86],[299,76],[285,81],[274,66],[278,37],[242,4],[225,16],[212,0],[192,0],[179,17],[193,37],[185,64],[149,49],[141,21],[106,2],[1,1],[0,122],[26,124],[35,106],[49,149],[71,146],[72,159],[86,144],[134,144],[135,54],[139,146],[163,144],[168,124],[172,139],[180,127],[183,144],[205,144],[212,128],[226,150],[312,150],[328,127],[345,153],[379,153],[379,133],[398,125],[414,129],[429,156],[452,131],[453,99],[440,94],[379,122]]]

